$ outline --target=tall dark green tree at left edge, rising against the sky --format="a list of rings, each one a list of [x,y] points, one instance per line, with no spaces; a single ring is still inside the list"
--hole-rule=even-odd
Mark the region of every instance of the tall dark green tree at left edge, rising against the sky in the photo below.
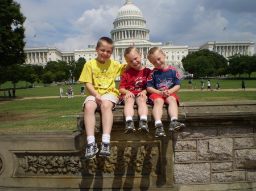
[[[18,3],[0,0],[0,66],[25,62],[25,29],[22,26],[25,20]]]

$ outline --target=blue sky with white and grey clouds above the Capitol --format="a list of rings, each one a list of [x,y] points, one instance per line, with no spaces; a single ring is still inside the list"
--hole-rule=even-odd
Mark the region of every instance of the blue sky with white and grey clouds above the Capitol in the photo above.
[[[26,16],[26,47],[88,48],[111,37],[126,0],[15,0]],[[150,41],[200,46],[208,41],[256,42],[255,0],[133,0],[146,19]],[[226,30],[224,28],[226,27]],[[36,35],[36,37],[34,37]]]

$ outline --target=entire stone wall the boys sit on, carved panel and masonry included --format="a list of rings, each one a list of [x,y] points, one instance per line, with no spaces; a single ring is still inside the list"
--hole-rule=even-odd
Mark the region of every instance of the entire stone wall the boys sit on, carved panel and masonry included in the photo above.
[[[0,190],[255,190],[256,101],[181,103],[187,126],[167,137],[124,133],[123,107],[115,109],[111,158],[84,160],[81,131],[28,131],[0,135]],[[100,113],[96,140],[101,141]],[[138,125],[138,116],[134,116]]]

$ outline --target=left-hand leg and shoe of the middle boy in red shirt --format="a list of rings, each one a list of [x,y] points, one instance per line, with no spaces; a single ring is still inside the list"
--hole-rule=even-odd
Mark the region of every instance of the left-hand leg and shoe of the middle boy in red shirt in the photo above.
[[[125,108],[123,109],[123,115],[125,116],[125,133],[133,133],[134,131],[136,131],[133,122],[134,98],[129,97],[123,100],[123,103],[125,104]]]

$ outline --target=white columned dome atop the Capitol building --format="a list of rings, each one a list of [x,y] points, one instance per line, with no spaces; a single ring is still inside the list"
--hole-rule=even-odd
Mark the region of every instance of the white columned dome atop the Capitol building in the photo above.
[[[117,12],[114,28],[111,36],[114,42],[118,41],[149,41],[149,29],[141,10],[133,4],[132,0],[126,0]]]

